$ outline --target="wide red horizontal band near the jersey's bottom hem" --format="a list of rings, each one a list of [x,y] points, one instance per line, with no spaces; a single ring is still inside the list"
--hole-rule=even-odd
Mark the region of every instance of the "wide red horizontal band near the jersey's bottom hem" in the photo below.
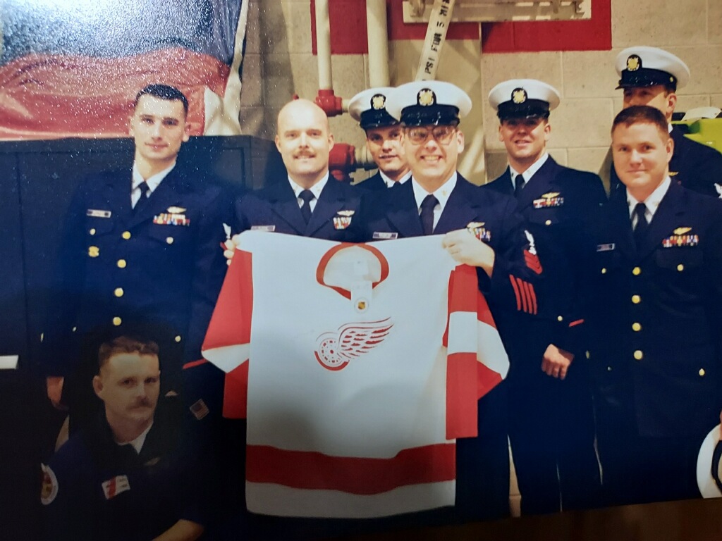
[[[246,448],[246,480],[291,488],[379,494],[456,478],[456,445],[404,449],[392,458],[331,457],[264,445]]]

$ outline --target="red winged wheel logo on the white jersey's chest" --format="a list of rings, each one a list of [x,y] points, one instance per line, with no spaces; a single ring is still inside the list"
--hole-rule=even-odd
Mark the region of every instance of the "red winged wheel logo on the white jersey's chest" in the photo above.
[[[323,333],[316,340],[316,360],[325,369],[341,370],[383,342],[393,327],[390,320],[346,323],[337,333]]]

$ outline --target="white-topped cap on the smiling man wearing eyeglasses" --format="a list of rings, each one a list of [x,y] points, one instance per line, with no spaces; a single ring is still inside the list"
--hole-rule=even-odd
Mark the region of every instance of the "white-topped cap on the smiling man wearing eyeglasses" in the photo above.
[[[454,125],[471,110],[464,90],[444,81],[402,84],[388,95],[386,110],[405,126]]]

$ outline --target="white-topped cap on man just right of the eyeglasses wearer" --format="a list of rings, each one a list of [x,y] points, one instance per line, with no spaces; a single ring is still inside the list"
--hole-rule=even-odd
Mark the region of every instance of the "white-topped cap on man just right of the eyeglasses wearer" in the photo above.
[[[499,120],[509,118],[549,118],[549,111],[559,106],[557,89],[536,79],[509,79],[489,92],[489,102]]]

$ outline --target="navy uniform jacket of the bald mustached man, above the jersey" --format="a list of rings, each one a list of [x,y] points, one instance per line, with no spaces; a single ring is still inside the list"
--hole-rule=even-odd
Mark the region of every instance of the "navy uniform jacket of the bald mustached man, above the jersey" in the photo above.
[[[360,240],[362,193],[362,190],[329,177],[306,224],[288,180],[274,182],[244,195],[236,202],[234,232],[266,229],[303,237],[356,242]]]

